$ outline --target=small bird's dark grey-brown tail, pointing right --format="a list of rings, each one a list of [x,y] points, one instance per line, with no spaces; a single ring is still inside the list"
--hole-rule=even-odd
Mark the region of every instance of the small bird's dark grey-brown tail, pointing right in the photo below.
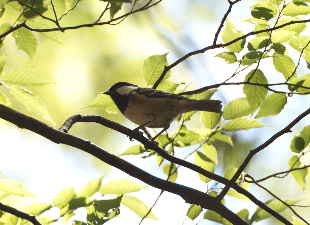
[[[186,100],[190,104],[191,111],[207,111],[207,112],[222,112],[222,102],[220,100],[208,99],[208,100],[195,100],[195,99],[187,99]]]

